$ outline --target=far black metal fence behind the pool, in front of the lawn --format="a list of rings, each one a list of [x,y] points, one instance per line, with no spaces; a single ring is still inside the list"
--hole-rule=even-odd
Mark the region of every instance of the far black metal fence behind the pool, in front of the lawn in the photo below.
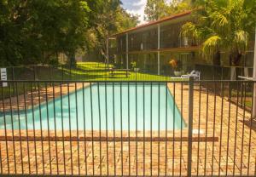
[[[83,62],[77,66],[10,66],[7,68],[9,80],[74,80],[74,81],[95,81],[95,80],[119,80],[119,81],[143,81],[143,80],[170,80],[170,76],[157,75],[157,71],[146,71],[142,69],[125,69],[113,64]]]

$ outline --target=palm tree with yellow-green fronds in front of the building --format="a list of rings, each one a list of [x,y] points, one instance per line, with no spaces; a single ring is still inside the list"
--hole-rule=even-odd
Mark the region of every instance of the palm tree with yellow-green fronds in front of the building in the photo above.
[[[249,35],[255,26],[252,0],[195,0],[192,22],[183,25],[182,35],[201,43],[201,54],[220,64],[220,51],[230,54],[230,65],[237,66],[247,51]]]

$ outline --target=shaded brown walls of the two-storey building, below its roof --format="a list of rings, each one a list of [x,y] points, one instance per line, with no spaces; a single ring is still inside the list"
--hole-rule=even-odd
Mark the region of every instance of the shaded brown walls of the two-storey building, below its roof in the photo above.
[[[169,65],[172,59],[179,60],[183,65],[183,73],[195,69],[196,65],[212,66],[212,57],[202,56],[199,50],[190,50],[195,46],[194,39],[181,36],[181,29],[188,20],[178,21],[174,24],[160,24],[160,63],[158,63],[158,26],[148,26],[143,30],[128,33],[129,64],[136,61],[141,71],[172,75],[173,70]],[[253,37],[254,35],[252,35]],[[191,48],[190,48],[191,47]],[[177,51],[176,51],[177,49]],[[183,52],[178,49],[185,49]],[[199,49],[199,48],[198,48]],[[164,50],[164,51],[162,51]],[[172,51],[172,52],[171,52]],[[220,65],[230,66],[230,54],[222,51]],[[126,34],[117,36],[117,54],[115,60],[120,66],[126,68]],[[253,45],[247,54],[242,55],[239,66],[253,66]]]

